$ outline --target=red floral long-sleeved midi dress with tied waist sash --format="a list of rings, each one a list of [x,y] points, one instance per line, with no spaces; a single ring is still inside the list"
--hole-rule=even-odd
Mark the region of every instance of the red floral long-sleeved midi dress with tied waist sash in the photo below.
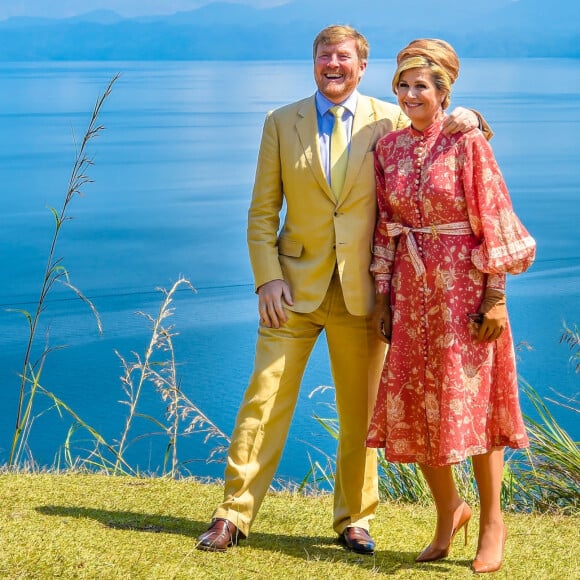
[[[478,343],[467,314],[486,286],[503,289],[506,273],[525,271],[536,247],[483,135],[445,136],[442,122],[377,144],[371,266],[393,329],[367,446],[431,466],[528,444],[509,324]]]

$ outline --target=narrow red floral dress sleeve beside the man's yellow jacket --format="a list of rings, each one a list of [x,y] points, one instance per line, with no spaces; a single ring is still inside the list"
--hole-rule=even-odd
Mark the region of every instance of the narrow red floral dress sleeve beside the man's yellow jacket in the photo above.
[[[386,203],[387,192],[385,190],[383,159],[384,157],[381,154],[379,144],[375,151],[378,217],[373,243],[373,259],[371,262],[371,274],[375,278],[375,291],[377,294],[389,293],[393,274],[393,261],[395,259],[395,240],[387,235],[386,229],[386,224],[390,221],[390,216]]]

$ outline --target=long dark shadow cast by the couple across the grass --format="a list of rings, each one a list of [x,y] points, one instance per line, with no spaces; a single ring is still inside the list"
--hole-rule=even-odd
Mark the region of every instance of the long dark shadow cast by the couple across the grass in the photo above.
[[[207,522],[197,522],[187,518],[174,516],[161,516],[128,511],[108,511],[95,508],[67,507],[67,506],[39,506],[36,511],[45,516],[58,516],[68,518],[89,518],[100,522],[102,525],[132,532],[147,532],[160,534],[180,534],[193,541],[207,529]],[[425,574],[430,577],[433,574],[445,575],[457,567],[469,567],[470,561],[463,559],[448,558],[444,561],[428,565],[420,565],[414,562],[416,552],[400,552],[394,550],[381,550],[373,556],[364,556],[344,549],[334,535],[287,535],[278,533],[265,533],[253,531],[249,539],[240,542],[239,546],[232,550],[244,548],[253,550],[268,550],[286,554],[292,558],[301,558],[309,561],[341,562],[374,570],[381,574],[397,574],[402,570],[414,570],[418,575]],[[200,552],[210,557],[223,557],[221,554]]]

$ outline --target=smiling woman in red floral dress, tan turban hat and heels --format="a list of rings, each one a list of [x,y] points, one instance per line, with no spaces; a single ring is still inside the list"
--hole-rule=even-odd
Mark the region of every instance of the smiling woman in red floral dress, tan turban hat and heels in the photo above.
[[[367,445],[389,461],[418,463],[429,484],[437,526],[419,562],[446,557],[462,527],[467,539],[471,509],[451,465],[472,458],[481,506],[472,568],[491,572],[507,537],[503,450],[528,444],[505,278],[532,264],[535,242],[481,132],[441,131],[458,71],[443,41],[403,49],[393,90],[411,126],[376,147],[373,316],[390,347]]]

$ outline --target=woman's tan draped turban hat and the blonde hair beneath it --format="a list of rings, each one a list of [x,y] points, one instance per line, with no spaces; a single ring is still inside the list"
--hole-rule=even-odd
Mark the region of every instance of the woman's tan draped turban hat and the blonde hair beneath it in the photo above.
[[[397,70],[392,81],[395,94],[401,74],[413,68],[429,69],[435,86],[445,95],[441,106],[446,109],[451,100],[451,85],[459,76],[459,58],[453,47],[438,38],[411,41],[397,55]]]

